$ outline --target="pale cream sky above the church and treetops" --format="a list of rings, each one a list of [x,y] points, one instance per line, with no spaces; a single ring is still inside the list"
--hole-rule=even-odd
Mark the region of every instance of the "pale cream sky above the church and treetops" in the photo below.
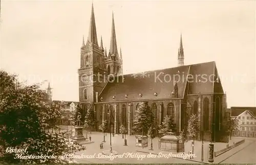
[[[255,1],[93,1],[98,43],[109,50],[114,12],[123,74],[216,61],[227,106],[255,104]],[[0,67],[53,100],[78,101],[82,36],[92,1],[1,1]],[[48,83],[42,85],[46,88]]]

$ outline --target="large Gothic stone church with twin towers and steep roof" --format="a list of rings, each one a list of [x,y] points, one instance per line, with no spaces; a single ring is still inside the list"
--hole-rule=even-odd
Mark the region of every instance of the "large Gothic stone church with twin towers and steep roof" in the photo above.
[[[138,103],[148,102],[157,124],[170,115],[178,132],[183,129],[187,132],[189,116],[196,114],[200,122],[198,139],[203,135],[205,140],[223,141],[222,126],[227,119],[226,94],[215,61],[184,65],[181,37],[177,66],[123,75],[114,14],[110,41],[109,51],[103,48],[102,37],[98,43],[92,5],[89,36],[82,41],[78,75],[79,103],[84,110],[93,107],[96,130],[106,120],[108,131],[111,128],[111,132],[118,134],[123,124],[131,135]]]

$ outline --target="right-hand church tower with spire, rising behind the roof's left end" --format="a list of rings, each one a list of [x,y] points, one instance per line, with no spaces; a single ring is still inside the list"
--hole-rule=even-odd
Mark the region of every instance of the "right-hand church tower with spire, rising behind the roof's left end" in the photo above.
[[[120,49],[120,57],[117,51],[116,31],[114,22],[114,13],[112,14],[112,30],[110,40],[110,50],[108,56],[105,58],[105,68],[108,75],[122,75],[122,52]]]

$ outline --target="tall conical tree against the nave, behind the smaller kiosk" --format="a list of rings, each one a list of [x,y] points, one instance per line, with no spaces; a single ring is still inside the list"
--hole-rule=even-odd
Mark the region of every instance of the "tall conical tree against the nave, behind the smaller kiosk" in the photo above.
[[[153,123],[153,115],[147,102],[140,102],[138,109],[135,110],[134,126],[132,131],[134,133],[142,132],[142,135],[147,134],[148,129]]]

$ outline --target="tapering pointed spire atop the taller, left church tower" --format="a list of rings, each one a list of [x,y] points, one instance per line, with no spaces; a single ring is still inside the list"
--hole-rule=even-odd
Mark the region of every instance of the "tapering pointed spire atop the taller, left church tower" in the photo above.
[[[94,44],[98,45],[93,3],[92,3],[92,14],[91,14],[91,22],[90,22],[88,41],[90,43],[94,43]]]

